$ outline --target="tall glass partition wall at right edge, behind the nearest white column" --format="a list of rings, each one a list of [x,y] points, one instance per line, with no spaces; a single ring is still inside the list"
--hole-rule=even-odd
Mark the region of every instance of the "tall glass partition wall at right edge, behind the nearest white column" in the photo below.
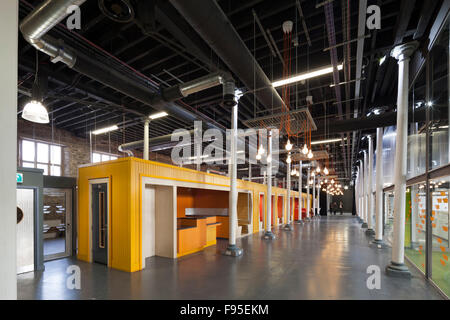
[[[449,21],[426,56],[409,93],[405,256],[450,296],[449,252]],[[411,118],[412,117],[412,118]],[[395,127],[385,128],[383,164],[395,150]],[[393,187],[384,174],[384,234],[392,238]]]

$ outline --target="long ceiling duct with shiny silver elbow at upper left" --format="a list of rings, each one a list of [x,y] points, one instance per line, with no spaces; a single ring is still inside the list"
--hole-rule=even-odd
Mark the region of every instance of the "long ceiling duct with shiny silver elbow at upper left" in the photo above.
[[[122,92],[154,109],[166,111],[170,115],[186,121],[204,121],[210,128],[224,130],[223,126],[215,123],[212,119],[174,104],[174,101],[184,97],[183,92],[179,91],[178,88],[163,89],[160,95],[155,92],[154,88],[139,83],[136,79],[113,69],[101,61],[93,60],[91,57],[64,44],[61,39],[56,40],[46,35],[49,30],[67,17],[67,9],[70,6],[80,6],[84,2],[85,0],[47,0],[43,2],[25,17],[20,24],[20,30],[25,40],[39,51],[49,55],[52,62],[63,62],[73,70]],[[223,79],[230,78],[224,74],[222,73]],[[217,74],[213,76],[217,76]],[[228,85],[226,89],[228,90],[229,87]]]

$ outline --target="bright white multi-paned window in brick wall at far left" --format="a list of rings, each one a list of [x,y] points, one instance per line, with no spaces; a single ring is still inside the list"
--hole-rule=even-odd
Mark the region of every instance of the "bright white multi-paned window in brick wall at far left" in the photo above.
[[[21,165],[44,170],[44,175],[61,176],[61,146],[22,140]]]

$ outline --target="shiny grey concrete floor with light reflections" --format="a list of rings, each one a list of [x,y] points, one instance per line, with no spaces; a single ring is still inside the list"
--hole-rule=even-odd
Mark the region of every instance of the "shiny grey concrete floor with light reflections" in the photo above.
[[[442,299],[410,267],[412,279],[391,278],[390,249],[369,246],[353,217],[322,217],[292,232],[276,229],[238,241],[239,258],[223,256],[226,241],[178,260],[153,257],[147,269],[126,273],[66,258],[44,272],[18,276],[19,299]],[[66,268],[81,268],[81,290],[66,288]],[[370,265],[381,269],[381,289],[366,285]]]

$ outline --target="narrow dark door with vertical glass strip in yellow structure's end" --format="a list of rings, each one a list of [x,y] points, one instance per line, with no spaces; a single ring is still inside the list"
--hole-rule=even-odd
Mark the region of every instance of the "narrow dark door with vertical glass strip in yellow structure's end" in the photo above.
[[[108,264],[108,184],[92,184],[92,260]]]

